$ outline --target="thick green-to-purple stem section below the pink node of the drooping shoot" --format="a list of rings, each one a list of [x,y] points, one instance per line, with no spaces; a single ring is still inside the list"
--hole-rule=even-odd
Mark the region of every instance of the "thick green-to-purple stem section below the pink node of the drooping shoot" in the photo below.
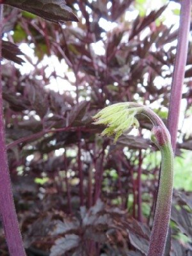
[[[148,256],[162,256],[168,227],[170,222],[170,212],[172,205],[173,187],[173,150],[170,141],[159,147],[161,150],[161,172],[159,179],[159,189],[156,202],[154,223],[150,235]]]

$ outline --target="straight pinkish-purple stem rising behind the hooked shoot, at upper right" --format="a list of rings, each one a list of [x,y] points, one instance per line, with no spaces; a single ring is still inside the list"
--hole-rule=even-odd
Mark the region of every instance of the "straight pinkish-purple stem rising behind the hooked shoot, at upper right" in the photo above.
[[[180,4],[181,8],[177,54],[173,70],[170,107],[168,111],[168,130],[170,131],[172,137],[173,152],[175,152],[177,143],[180,100],[182,99],[182,84],[184,82],[185,66],[188,54],[191,0],[182,0],[180,1]]]

